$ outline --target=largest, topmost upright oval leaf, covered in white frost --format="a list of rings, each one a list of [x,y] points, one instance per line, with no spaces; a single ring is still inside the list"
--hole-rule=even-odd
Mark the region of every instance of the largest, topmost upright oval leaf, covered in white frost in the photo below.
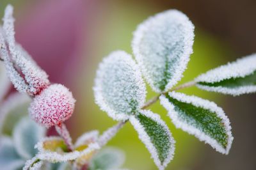
[[[138,26],[132,50],[154,91],[168,91],[180,81],[193,52],[193,38],[193,24],[177,10],[158,13]]]

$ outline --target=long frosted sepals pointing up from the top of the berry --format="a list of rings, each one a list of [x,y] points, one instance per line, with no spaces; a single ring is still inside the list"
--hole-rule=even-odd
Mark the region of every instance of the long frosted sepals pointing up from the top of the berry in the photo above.
[[[15,42],[12,14],[13,7],[8,5],[4,12],[3,29],[0,31],[1,56],[15,88],[32,96],[37,95],[49,85],[48,75],[36,65],[28,52]]]

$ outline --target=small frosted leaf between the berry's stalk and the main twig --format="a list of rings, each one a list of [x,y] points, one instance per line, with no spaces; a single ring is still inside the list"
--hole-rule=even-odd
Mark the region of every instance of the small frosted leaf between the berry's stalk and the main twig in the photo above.
[[[98,137],[99,137],[98,130],[92,130],[90,132],[86,132],[77,138],[74,146],[75,148],[78,148],[79,146],[88,145],[89,143],[94,143],[97,141]]]

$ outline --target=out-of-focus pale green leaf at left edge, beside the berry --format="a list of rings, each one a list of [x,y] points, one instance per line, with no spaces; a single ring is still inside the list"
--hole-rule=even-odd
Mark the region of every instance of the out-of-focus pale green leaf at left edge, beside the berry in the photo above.
[[[28,106],[31,98],[28,95],[13,93],[0,108],[0,135],[12,135],[17,122],[28,115]]]

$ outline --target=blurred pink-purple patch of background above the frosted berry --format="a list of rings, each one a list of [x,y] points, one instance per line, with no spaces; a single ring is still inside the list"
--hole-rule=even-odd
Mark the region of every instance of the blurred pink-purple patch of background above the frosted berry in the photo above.
[[[16,38],[51,82],[72,87],[77,65],[86,59],[88,24],[95,1],[33,1],[17,17]],[[24,12],[25,11],[25,12]]]

